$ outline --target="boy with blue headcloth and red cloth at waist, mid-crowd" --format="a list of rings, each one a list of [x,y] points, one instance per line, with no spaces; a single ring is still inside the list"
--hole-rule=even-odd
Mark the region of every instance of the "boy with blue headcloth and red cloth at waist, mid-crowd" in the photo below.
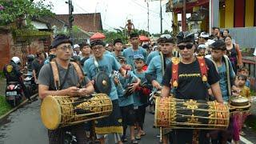
[[[141,79],[143,83],[140,84],[138,89],[134,93],[134,110],[136,114],[136,127],[138,129],[138,134],[136,139],[141,139],[141,136],[145,135],[143,131],[143,124],[146,113],[147,100],[150,95],[150,89],[146,86],[146,76],[143,66],[145,66],[145,59],[142,54],[134,55],[134,63],[136,69],[134,74]]]

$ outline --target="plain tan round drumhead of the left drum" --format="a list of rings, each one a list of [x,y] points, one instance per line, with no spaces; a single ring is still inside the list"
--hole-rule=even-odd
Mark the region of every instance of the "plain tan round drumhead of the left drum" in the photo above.
[[[55,130],[58,128],[62,121],[61,114],[62,109],[57,99],[52,96],[47,96],[43,99],[41,104],[41,119],[47,129]]]

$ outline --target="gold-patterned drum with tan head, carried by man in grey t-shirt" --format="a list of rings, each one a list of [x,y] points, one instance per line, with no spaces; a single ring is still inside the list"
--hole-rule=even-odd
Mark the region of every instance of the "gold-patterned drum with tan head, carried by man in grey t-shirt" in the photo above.
[[[41,104],[41,118],[47,129],[55,130],[107,117],[112,110],[111,99],[106,94],[90,97],[47,96]]]

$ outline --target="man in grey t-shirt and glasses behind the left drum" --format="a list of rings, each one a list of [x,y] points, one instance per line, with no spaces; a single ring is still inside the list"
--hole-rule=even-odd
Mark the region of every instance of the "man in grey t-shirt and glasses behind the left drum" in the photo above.
[[[58,68],[59,85],[54,81],[53,67],[51,63],[42,66],[38,76],[38,93],[41,99],[52,96],[84,96],[94,92],[94,86],[88,78],[80,77],[74,64],[70,63],[73,53],[72,42],[66,35],[58,35],[52,42],[52,48],[56,48],[56,61]],[[81,79],[82,78],[82,79]],[[78,86],[84,87],[79,89]],[[68,135],[69,133],[70,135]],[[66,126],[56,130],[48,130],[50,144],[61,144],[66,141],[67,136],[73,136],[78,143],[86,143],[84,124]]]

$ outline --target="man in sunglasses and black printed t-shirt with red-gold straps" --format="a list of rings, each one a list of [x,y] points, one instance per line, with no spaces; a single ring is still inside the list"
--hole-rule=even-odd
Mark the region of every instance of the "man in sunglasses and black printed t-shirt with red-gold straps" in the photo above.
[[[209,94],[206,83],[209,83],[217,102],[222,103],[222,93],[218,83],[219,76],[213,62],[206,58],[199,60],[194,56],[194,34],[180,32],[177,39],[179,54],[182,58],[180,58],[180,62],[173,61],[167,64],[162,80],[162,97],[168,97],[170,90],[173,89],[175,98],[207,101]],[[175,59],[177,60],[177,58]],[[202,74],[200,68],[202,60],[204,60],[203,64],[206,64],[204,65],[206,74]],[[172,76],[174,76],[173,79]],[[210,139],[207,137],[208,132],[208,130],[174,129],[170,132],[170,143],[185,144],[193,143],[194,140],[204,144],[210,143]]]

